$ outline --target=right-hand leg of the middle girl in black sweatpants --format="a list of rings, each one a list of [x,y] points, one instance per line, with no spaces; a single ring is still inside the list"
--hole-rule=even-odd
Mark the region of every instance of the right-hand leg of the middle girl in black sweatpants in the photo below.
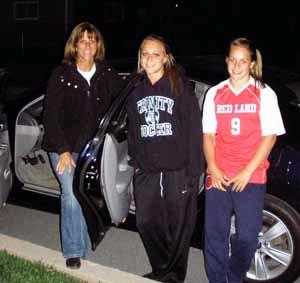
[[[173,281],[170,282],[183,282],[197,217],[199,182],[197,177],[186,176],[185,170],[167,172],[163,180],[170,239],[166,271],[173,273]]]

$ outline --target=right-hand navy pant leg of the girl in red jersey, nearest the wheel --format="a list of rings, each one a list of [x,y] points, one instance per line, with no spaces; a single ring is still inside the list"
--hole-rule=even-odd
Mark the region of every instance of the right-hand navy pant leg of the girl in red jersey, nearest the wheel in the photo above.
[[[231,192],[236,215],[236,234],[231,239],[228,279],[240,283],[250,268],[262,226],[265,185],[248,184],[242,192]]]

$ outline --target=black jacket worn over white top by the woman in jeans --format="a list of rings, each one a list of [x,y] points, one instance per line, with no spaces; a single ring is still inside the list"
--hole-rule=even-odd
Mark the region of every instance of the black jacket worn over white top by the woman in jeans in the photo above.
[[[62,64],[47,86],[43,120],[46,151],[79,152],[91,138],[124,81],[106,62],[96,63],[90,85],[76,66]]]

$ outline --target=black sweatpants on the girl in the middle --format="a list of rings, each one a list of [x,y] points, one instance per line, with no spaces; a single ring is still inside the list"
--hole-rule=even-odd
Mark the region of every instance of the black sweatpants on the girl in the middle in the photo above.
[[[197,194],[198,178],[185,170],[134,176],[137,228],[158,281],[185,279]]]

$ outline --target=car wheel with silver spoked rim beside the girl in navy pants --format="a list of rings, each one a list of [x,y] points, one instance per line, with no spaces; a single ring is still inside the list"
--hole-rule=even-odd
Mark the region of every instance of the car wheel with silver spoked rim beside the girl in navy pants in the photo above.
[[[283,200],[266,195],[263,228],[246,282],[291,283],[300,269],[300,216]]]

